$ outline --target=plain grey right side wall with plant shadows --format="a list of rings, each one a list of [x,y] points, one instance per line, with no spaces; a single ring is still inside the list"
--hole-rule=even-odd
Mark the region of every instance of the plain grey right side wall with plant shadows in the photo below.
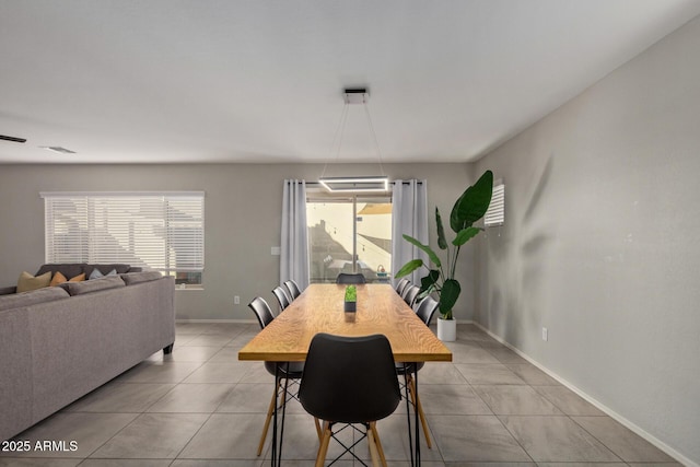
[[[476,167],[506,184],[476,319],[696,464],[699,51],[696,19]]]

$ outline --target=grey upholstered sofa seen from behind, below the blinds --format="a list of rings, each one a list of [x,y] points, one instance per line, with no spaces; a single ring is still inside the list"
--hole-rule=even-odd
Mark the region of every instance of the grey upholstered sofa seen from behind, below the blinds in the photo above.
[[[173,349],[175,281],[160,272],[12,292],[0,290],[0,440]]]

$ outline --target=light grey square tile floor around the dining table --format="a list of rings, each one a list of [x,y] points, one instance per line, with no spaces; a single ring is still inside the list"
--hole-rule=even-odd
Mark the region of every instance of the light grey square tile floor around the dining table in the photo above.
[[[77,451],[0,453],[0,466],[269,464],[269,436],[261,457],[256,448],[272,377],[259,362],[237,361],[257,332],[253,324],[179,324],[172,355],[152,355],[15,437],[75,441]],[[421,439],[423,465],[678,465],[477,327],[460,325],[448,347],[452,363],[419,374],[434,442],[429,450]],[[389,465],[409,465],[405,405],[378,430]],[[313,466],[316,448],[313,419],[291,402],[283,464]],[[366,444],[355,452],[368,458]]]

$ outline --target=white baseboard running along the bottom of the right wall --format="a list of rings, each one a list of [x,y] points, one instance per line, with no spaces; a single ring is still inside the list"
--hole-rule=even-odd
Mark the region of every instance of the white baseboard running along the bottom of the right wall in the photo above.
[[[486,334],[491,336],[494,340],[497,340],[500,343],[502,343],[503,346],[508,347],[513,352],[517,353],[520,357],[522,357],[523,359],[527,360],[533,365],[537,366],[537,369],[539,369],[540,371],[546,373],[548,376],[550,376],[553,380],[556,380],[557,382],[561,383],[563,386],[565,386],[567,388],[569,388],[572,392],[574,392],[578,396],[580,396],[584,400],[591,402],[593,406],[595,406],[595,408],[597,408],[598,410],[605,412],[605,415],[607,415],[611,419],[618,421],[623,427],[626,427],[627,429],[629,429],[633,433],[638,434],[639,436],[641,436],[642,439],[644,439],[649,443],[653,444],[654,446],[656,446],[657,448],[660,448],[661,451],[663,451],[664,453],[666,453],[667,455],[669,455],[670,457],[673,457],[674,459],[679,462],[680,464],[682,464],[685,466],[688,466],[688,467],[700,467],[700,464],[697,464],[697,463],[690,460],[689,458],[687,458],[686,456],[684,456],[682,454],[680,454],[679,452],[677,452],[676,450],[674,450],[673,447],[670,447],[669,445],[664,443],[663,441],[658,440],[654,435],[652,435],[652,434],[648,433],[646,431],[644,431],[639,425],[632,423],[631,421],[629,421],[628,419],[626,419],[621,415],[617,413],[615,410],[610,409],[609,407],[605,406],[604,404],[600,404],[598,400],[596,400],[593,397],[588,396],[586,393],[584,393],[583,390],[579,389],[576,386],[574,386],[573,384],[571,384],[570,382],[568,382],[567,380],[564,380],[563,377],[561,377],[557,373],[550,371],[549,369],[547,369],[546,366],[544,366],[539,362],[533,360],[526,353],[523,353],[516,347],[513,347],[511,343],[509,343],[505,340],[501,339],[500,336],[494,335],[489,329],[487,329],[486,327],[481,326],[480,323],[477,323],[477,322],[474,322],[474,320],[471,320],[471,322],[460,322],[460,323],[465,323],[465,324],[468,323],[468,324],[475,325],[476,327],[478,327],[479,329],[481,329],[482,331],[485,331]]]

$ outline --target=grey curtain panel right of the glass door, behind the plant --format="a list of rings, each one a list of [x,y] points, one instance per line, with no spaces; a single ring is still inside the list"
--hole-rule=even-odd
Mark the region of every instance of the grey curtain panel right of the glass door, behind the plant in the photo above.
[[[402,237],[404,234],[428,244],[428,183],[427,180],[394,180],[392,199],[392,273],[411,259],[422,259],[429,266],[428,255]],[[427,270],[420,268],[407,276],[417,285]],[[398,280],[393,280],[394,285]]]

